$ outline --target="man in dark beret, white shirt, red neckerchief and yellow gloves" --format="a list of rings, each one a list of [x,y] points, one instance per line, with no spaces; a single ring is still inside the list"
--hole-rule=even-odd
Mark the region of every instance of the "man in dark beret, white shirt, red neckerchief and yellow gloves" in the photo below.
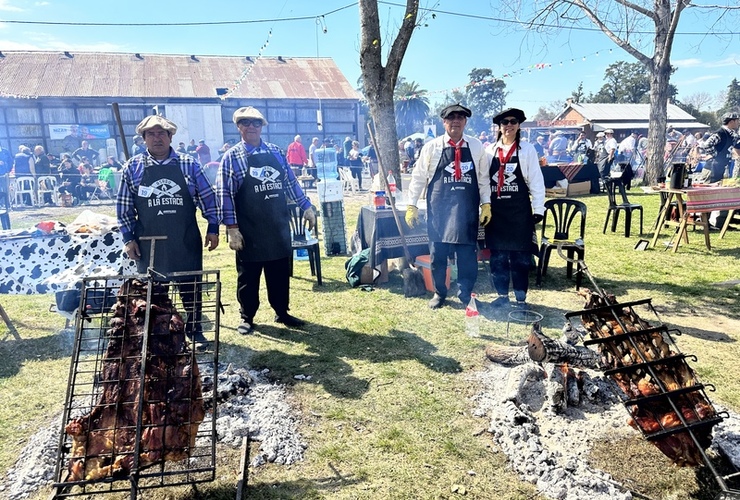
[[[478,226],[491,220],[490,160],[480,140],[463,133],[471,115],[459,103],[442,110],[445,133],[421,149],[408,187],[406,223],[411,227],[419,223],[417,203],[426,187],[434,283],[431,309],[442,307],[447,298],[447,259],[453,255],[457,261],[457,296],[468,304],[478,276]]]

